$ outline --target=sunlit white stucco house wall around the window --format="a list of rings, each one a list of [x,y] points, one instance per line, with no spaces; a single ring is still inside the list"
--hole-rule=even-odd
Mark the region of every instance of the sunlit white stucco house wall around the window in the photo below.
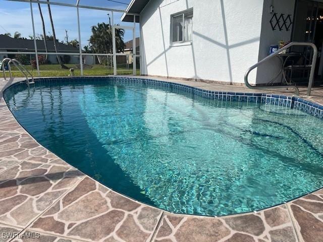
[[[170,47],[170,16],[190,8],[193,43]],[[258,61],[262,12],[263,0],[150,1],[140,14],[142,74],[243,83]]]

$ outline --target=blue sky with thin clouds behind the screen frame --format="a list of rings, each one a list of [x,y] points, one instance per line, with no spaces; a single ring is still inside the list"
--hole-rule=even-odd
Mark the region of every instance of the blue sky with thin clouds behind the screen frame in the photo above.
[[[51,2],[76,4],[76,0],[50,0]],[[110,9],[125,10],[126,4],[130,0],[116,0],[125,4],[114,3],[109,0],[80,0],[80,5],[103,7]],[[21,33],[23,37],[29,38],[33,35],[30,4],[22,2],[13,2],[8,0],[0,0],[0,16],[2,22],[0,23],[0,34],[11,33],[14,35],[16,31]],[[35,23],[36,35],[42,34],[41,18],[38,10],[38,5],[33,4],[33,14]],[[45,29],[47,35],[52,35],[50,21],[48,17],[48,10],[46,4],[41,4],[41,11],[44,17]],[[88,45],[88,40],[91,36],[91,27],[97,23],[109,23],[109,16],[112,17],[111,12],[101,10],[79,9],[80,13],[80,29],[81,29],[81,43],[82,46]],[[77,26],[77,12],[76,8],[63,7],[51,5],[51,14],[55,25],[56,37],[62,41],[66,41],[66,31],[68,32],[68,40],[78,39]],[[124,26],[133,26],[133,23],[121,22],[122,13],[114,12],[115,24]],[[139,36],[139,25],[136,24],[136,37]],[[133,37],[132,30],[125,30],[124,42],[131,40]]]

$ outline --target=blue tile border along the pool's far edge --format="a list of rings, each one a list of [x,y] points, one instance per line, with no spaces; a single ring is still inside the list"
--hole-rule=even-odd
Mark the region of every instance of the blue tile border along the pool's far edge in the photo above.
[[[79,81],[102,81],[102,82],[112,82],[116,84],[140,84],[149,85],[153,87],[163,87],[168,88],[171,91],[183,91],[185,93],[191,93],[193,95],[203,97],[212,100],[222,100],[222,101],[237,101],[237,102],[250,102],[250,103],[260,103],[268,105],[284,106],[287,108],[294,108],[308,113],[314,117],[323,119],[323,106],[312,103],[310,101],[304,100],[298,97],[289,97],[285,95],[278,94],[267,94],[267,93],[243,93],[243,92],[224,92],[224,91],[210,91],[204,90],[198,87],[192,87],[189,85],[184,85],[180,83],[173,83],[168,81],[159,81],[154,79],[138,78],[138,77],[62,77],[62,78],[36,78],[37,83],[60,83],[68,82],[70,84],[77,83]],[[25,83],[25,81],[17,82],[9,87],[3,92],[4,96],[10,87],[14,85],[19,85]]]

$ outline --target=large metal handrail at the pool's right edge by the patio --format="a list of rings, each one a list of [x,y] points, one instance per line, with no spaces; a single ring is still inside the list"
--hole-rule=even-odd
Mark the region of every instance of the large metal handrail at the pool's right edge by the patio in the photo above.
[[[255,69],[256,67],[258,67],[260,64],[268,61],[268,59],[271,59],[275,56],[279,56],[279,54],[285,50],[285,49],[288,49],[292,46],[310,46],[313,48],[313,59],[312,59],[312,64],[310,65],[311,66],[311,72],[310,72],[310,75],[309,75],[309,82],[308,82],[308,88],[307,88],[307,96],[310,96],[311,94],[311,89],[312,89],[312,86],[313,86],[313,81],[314,81],[314,71],[315,71],[315,65],[316,65],[316,58],[317,58],[317,48],[316,48],[316,45],[313,44],[313,43],[309,43],[309,42],[291,42],[289,44],[287,44],[286,46],[284,46],[283,48],[277,50],[275,53],[263,58],[260,62],[258,62],[257,64],[253,65],[252,67],[250,67],[246,74],[244,75],[244,83],[246,84],[246,86],[250,89],[268,89],[268,88],[293,88],[295,89],[297,95],[299,95],[299,90],[298,88],[295,86],[251,86],[249,81],[248,81],[248,77],[249,77],[249,74],[250,72]]]

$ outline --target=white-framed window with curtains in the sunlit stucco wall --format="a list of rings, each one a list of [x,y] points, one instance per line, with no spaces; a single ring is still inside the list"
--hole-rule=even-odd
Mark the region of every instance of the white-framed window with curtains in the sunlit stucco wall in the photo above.
[[[171,44],[192,41],[193,9],[171,16]]]

